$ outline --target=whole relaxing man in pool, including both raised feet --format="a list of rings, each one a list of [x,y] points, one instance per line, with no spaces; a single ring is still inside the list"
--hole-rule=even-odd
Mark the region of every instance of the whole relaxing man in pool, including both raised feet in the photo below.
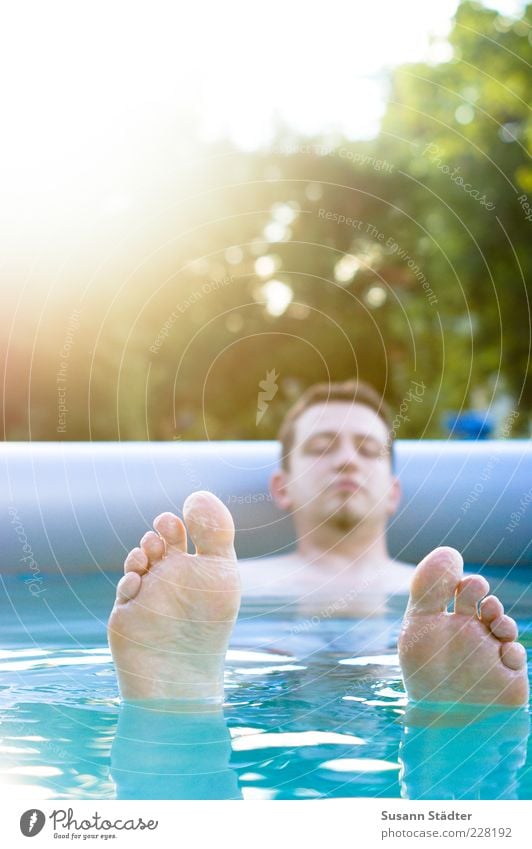
[[[282,468],[272,493],[292,511],[297,548],[244,562],[244,590],[288,598],[305,610],[337,604],[353,615],[382,611],[390,595],[410,586],[399,640],[409,697],[525,704],[526,652],[501,602],[486,597],[487,581],[464,577],[453,549],[436,549],[415,570],[388,554],[386,524],[400,488],[379,396],[360,383],[313,387],[289,412],[280,438]],[[183,517],[185,524],[171,513],[158,516],[155,532],[126,558],[109,621],[126,700],[223,701],[225,653],[240,602],[233,522],[207,492],[187,498]],[[187,554],[187,530],[196,555]]]

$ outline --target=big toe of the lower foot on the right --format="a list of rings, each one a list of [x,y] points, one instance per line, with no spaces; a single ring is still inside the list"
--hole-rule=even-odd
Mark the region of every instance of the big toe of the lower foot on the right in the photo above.
[[[464,562],[454,548],[436,548],[417,566],[410,590],[411,613],[442,613],[462,579]]]

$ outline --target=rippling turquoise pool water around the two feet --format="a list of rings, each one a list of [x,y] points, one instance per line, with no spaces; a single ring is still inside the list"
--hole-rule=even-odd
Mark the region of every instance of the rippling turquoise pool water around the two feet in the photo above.
[[[531,657],[528,583],[512,575],[498,588],[489,577]],[[22,579],[3,582],[4,797],[532,798],[521,712],[465,730],[405,725],[399,607],[386,618],[316,621],[289,606],[244,606],[224,717],[128,715],[105,638],[115,580],[46,578],[37,597]]]

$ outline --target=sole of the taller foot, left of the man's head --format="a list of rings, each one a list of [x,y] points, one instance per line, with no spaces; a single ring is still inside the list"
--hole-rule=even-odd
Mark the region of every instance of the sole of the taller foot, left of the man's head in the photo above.
[[[125,561],[108,625],[124,699],[223,700],[224,659],[240,604],[228,509],[210,492],[162,513]]]

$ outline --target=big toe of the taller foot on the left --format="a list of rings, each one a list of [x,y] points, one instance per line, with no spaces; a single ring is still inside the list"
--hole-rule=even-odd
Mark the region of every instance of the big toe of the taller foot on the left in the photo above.
[[[183,516],[198,554],[234,558],[235,526],[229,510],[212,492],[193,492]]]

